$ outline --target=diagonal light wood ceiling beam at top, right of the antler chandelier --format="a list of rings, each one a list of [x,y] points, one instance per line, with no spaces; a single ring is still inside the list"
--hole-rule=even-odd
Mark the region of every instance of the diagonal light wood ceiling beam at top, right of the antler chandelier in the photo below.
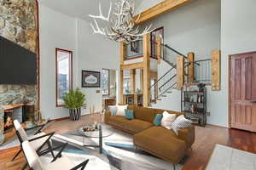
[[[169,12],[170,10],[179,7],[184,3],[189,3],[190,1],[191,0],[164,0],[163,2],[157,3],[153,7],[143,11],[141,13],[140,19],[137,21],[136,24],[143,24],[143,22],[152,20],[158,17],[160,14],[165,14],[166,12]],[[138,15],[139,14],[135,16],[135,19],[137,19]]]

